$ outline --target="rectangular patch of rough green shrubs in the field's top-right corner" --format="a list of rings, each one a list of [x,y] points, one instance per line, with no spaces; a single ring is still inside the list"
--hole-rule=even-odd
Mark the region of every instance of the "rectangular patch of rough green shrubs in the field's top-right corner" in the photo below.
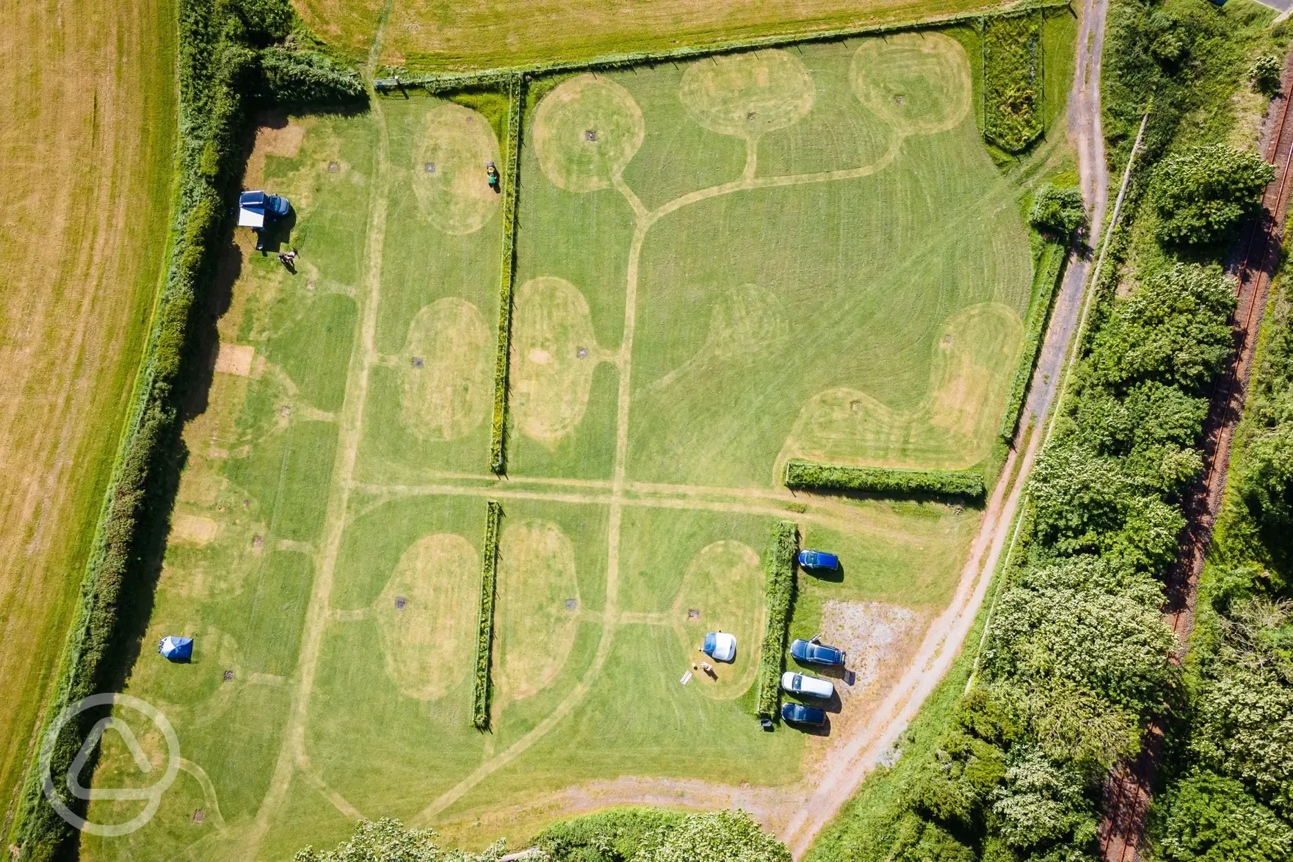
[[[1042,26],[1033,10],[984,22],[984,134],[1007,152],[1042,133]]]

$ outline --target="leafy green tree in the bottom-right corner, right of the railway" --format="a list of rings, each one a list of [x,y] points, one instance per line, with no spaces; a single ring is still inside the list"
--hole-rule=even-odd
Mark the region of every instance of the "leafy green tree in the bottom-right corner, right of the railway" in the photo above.
[[[1166,859],[1275,862],[1293,856],[1293,830],[1231,778],[1196,773],[1161,805],[1166,815],[1160,849]]]

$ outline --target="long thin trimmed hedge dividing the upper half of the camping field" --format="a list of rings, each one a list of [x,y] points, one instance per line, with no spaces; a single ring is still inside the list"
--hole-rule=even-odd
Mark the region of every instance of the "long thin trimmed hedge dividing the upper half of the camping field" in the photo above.
[[[498,348],[494,353],[494,420],[490,425],[489,467],[507,472],[507,371],[512,349],[512,279],[516,275],[516,194],[521,181],[521,105],[525,78],[511,76],[507,84],[507,137],[503,141],[503,249],[499,265]]]

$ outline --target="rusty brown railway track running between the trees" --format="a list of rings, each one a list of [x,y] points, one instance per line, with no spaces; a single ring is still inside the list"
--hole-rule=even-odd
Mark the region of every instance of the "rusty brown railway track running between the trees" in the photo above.
[[[1257,330],[1279,265],[1280,244],[1289,196],[1293,194],[1293,114],[1289,90],[1293,88],[1293,52],[1285,61],[1280,94],[1271,100],[1265,156],[1275,165],[1275,180],[1262,194],[1262,216],[1236,248],[1232,274],[1236,277],[1239,305],[1235,309],[1235,355],[1226,372],[1213,383],[1210,407],[1204,425],[1204,477],[1184,501],[1187,520],[1181,556],[1166,583],[1164,619],[1175,632],[1179,646],[1173,655],[1184,659],[1190,632],[1195,624],[1199,575],[1204,569],[1213,525],[1221,509],[1230,447],[1244,411],[1244,395],[1257,348]],[[1146,814],[1162,750],[1164,725],[1155,721],[1146,734],[1139,756],[1120,764],[1104,786],[1104,821],[1098,835],[1100,857],[1106,862],[1137,862],[1144,837]]]

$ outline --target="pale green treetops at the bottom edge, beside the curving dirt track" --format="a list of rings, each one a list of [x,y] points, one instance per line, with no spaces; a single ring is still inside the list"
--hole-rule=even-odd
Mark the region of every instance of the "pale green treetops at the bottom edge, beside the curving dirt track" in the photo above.
[[[740,809],[610,810],[553,823],[535,845],[553,862],[790,862],[786,845]]]

